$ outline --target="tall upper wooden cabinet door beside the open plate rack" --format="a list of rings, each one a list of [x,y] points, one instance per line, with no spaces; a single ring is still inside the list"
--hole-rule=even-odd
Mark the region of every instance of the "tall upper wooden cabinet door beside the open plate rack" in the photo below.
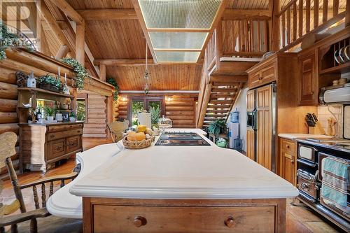
[[[318,83],[315,68],[315,54],[299,58],[300,69],[300,105],[318,104]]]

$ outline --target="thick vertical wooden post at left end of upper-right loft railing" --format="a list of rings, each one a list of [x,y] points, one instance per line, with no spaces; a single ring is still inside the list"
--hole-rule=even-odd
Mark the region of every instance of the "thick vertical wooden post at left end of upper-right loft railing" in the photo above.
[[[279,0],[269,0],[269,10],[272,13],[272,32],[271,32],[271,50],[280,49],[280,28],[279,28],[279,10],[281,10]]]

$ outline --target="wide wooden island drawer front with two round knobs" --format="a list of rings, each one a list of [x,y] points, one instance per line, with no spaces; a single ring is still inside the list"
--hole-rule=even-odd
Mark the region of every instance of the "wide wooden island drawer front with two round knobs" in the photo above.
[[[94,232],[274,232],[274,206],[94,205]]]

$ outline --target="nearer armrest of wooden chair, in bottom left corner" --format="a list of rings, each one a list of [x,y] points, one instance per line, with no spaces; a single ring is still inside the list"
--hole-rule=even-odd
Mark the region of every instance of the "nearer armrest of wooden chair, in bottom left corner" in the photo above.
[[[14,216],[6,216],[0,218],[0,227],[22,223],[33,218],[45,218],[47,216],[50,216],[50,213],[48,213],[46,208],[36,209],[35,211],[28,211],[25,213],[16,214]]]

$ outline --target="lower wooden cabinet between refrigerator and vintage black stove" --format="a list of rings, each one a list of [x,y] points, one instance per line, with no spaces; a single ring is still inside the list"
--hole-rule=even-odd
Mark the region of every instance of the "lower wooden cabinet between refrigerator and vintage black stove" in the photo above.
[[[279,139],[280,176],[296,185],[297,143],[288,139]]]

